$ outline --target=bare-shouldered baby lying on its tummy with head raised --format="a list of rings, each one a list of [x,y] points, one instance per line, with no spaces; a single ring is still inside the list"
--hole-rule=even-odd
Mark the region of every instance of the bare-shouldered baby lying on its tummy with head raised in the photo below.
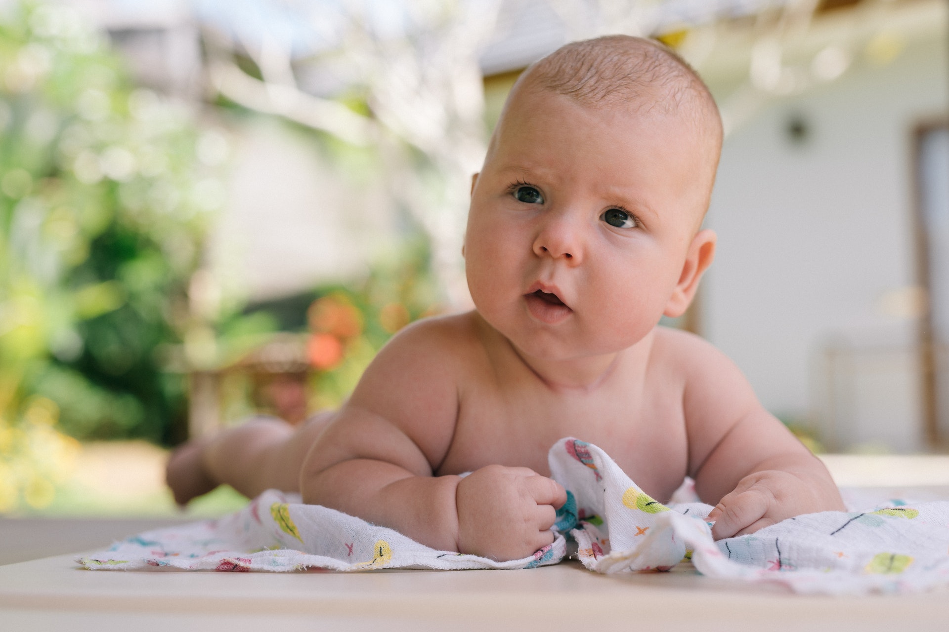
[[[654,42],[604,37],[534,63],[472,182],[474,311],[393,337],[338,412],[186,444],[168,465],[177,501],[222,482],[299,491],[435,549],[516,559],[553,541],[566,492],[547,453],[572,436],[661,501],[694,478],[716,538],[843,511],[735,365],[658,326],[715,254],[700,225],[721,140],[708,89]]]

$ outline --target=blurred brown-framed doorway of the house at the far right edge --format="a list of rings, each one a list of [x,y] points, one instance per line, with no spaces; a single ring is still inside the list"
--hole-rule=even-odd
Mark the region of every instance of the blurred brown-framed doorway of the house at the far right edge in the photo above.
[[[929,309],[921,324],[926,431],[949,448],[949,123],[923,125],[915,143],[920,270]]]

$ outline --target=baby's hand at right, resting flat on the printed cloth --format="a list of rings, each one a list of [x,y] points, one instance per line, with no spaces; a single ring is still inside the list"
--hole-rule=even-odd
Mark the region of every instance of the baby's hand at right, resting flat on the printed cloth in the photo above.
[[[836,489],[834,490],[836,491]],[[709,514],[716,540],[754,533],[795,515],[844,511],[840,497],[790,472],[764,470],[738,481]]]

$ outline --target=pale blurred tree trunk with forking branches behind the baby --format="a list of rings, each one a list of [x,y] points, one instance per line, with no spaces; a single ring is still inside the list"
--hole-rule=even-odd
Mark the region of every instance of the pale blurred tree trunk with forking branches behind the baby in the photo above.
[[[326,57],[342,64],[348,90],[363,95],[365,116],[301,89],[288,42],[266,32],[258,42],[205,33],[209,76],[220,95],[379,149],[388,190],[428,233],[437,279],[456,307],[470,302],[460,252],[469,178],[487,136],[477,56],[499,6],[498,0],[406,3],[401,32],[393,34],[381,32],[361,3],[345,3],[338,27],[344,50]],[[242,54],[260,79],[235,62]]]

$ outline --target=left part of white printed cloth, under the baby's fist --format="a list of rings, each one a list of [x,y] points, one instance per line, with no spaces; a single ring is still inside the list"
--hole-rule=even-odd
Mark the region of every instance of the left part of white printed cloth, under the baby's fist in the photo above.
[[[78,561],[86,569],[126,570],[525,569],[556,564],[566,545],[560,535],[547,550],[510,562],[436,551],[391,529],[269,490],[236,514],[141,533]]]

